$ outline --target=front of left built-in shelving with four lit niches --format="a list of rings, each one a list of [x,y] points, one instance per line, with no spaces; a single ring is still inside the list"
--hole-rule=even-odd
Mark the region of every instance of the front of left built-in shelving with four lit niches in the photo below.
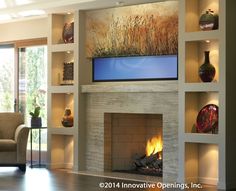
[[[62,37],[66,23],[74,22],[74,41]],[[48,41],[48,162],[50,168],[76,168],[78,163],[78,13],[52,14]],[[73,79],[64,80],[64,63],[73,63]],[[69,108],[73,127],[64,127],[62,117]]]

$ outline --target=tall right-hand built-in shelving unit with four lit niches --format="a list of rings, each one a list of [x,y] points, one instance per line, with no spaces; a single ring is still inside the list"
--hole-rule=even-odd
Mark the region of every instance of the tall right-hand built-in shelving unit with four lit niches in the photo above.
[[[224,41],[225,3],[220,0],[181,0],[179,15],[179,181],[225,186]],[[211,9],[219,15],[219,28],[201,31],[199,18]],[[204,51],[216,74],[202,82],[199,67]],[[207,104],[219,107],[219,131],[198,133],[196,119]]]

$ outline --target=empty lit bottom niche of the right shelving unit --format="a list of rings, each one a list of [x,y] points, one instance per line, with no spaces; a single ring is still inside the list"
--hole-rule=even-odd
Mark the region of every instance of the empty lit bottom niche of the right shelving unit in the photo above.
[[[216,186],[218,153],[215,144],[185,143],[185,181]]]

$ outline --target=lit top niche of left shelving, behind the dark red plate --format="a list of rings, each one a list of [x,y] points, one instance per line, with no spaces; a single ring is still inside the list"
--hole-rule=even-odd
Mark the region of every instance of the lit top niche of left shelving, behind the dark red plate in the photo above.
[[[74,14],[52,15],[52,44],[65,44],[62,38],[63,28],[66,23],[74,22]]]

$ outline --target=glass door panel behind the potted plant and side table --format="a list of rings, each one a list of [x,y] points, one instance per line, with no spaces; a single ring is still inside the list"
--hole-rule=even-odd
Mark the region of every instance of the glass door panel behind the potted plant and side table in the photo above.
[[[19,48],[19,111],[30,126],[30,112],[39,106],[42,126],[47,125],[47,46]],[[38,151],[39,131],[33,130],[33,150]],[[28,149],[30,144],[28,144]],[[47,131],[41,130],[41,150],[47,150]],[[34,155],[34,154],[33,154]],[[37,158],[37,156],[36,156]],[[42,156],[43,160],[43,156]]]

